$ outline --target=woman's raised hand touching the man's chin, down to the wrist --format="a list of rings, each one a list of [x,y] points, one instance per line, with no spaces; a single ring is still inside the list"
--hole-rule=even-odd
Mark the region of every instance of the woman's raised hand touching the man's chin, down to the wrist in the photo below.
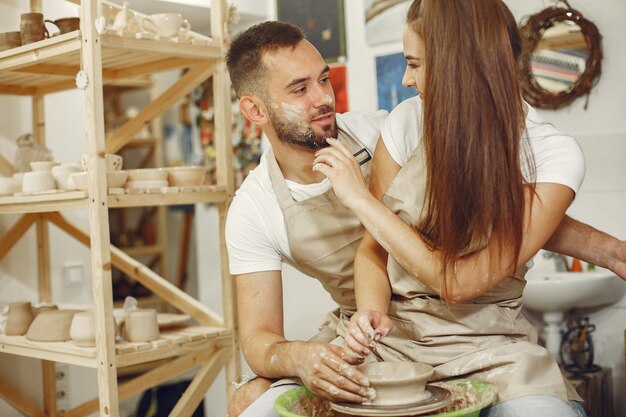
[[[328,148],[315,154],[313,171],[319,171],[330,180],[335,194],[344,206],[353,209],[359,202],[372,198],[356,158],[337,139],[329,138]]]

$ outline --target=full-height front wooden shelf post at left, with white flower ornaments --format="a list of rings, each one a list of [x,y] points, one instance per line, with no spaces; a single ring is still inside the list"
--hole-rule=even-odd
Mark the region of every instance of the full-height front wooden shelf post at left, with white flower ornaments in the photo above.
[[[115,361],[109,208],[104,143],[102,44],[94,26],[97,16],[97,3],[82,0],[80,8],[81,42],[83,44],[81,67],[88,80],[85,89],[85,122],[89,154],[88,199],[91,229],[91,270],[96,327],[99,414],[102,417],[118,417],[119,400]]]

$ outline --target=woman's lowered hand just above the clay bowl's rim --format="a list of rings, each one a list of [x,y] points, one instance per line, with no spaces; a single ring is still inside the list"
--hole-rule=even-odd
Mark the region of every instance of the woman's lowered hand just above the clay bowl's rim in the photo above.
[[[350,319],[344,350],[346,361],[351,364],[362,363],[378,342],[389,334],[393,321],[386,315],[374,310],[358,311]]]

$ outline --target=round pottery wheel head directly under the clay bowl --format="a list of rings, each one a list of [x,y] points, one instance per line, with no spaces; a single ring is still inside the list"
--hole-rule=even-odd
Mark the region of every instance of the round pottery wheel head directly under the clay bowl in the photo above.
[[[356,403],[330,403],[330,407],[340,413],[351,416],[413,416],[439,410],[452,402],[452,394],[445,388],[435,385],[426,385],[430,396],[421,401],[402,405],[373,405]]]

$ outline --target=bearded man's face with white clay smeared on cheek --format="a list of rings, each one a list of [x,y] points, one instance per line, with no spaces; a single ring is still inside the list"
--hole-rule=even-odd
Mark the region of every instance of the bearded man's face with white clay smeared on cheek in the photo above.
[[[264,101],[278,139],[309,149],[328,146],[326,138],[337,137],[335,94],[317,49],[303,40],[293,50],[266,55],[265,64]]]

